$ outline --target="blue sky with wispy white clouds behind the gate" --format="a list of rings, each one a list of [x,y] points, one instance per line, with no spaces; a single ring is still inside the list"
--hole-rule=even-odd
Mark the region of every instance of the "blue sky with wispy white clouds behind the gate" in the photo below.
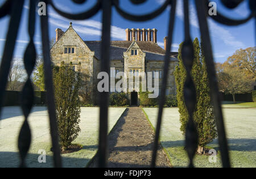
[[[0,0],[0,4],[5,2]],[[53,2],[63,11],[78,13],[85,11],[93,6],[96,2],[94,0],[86,1],[83,5],[75,5],[70,0],[53,0]],[[148,0],[139,6],[134,6],[130,1],[122,0],[119,1],[120,6],[133,14],[145,14],[152,12],[158,8],[164,0]],[[200,37],[199,25],[197,23],[196,10],[193,1],[189,7],[191,12],[191,36]],[[243,2],[235,10],[228,10],[221,5],[220,1],[214,1],[217,3],[217,10],[221,11],[222,14],[229,16],[230,18],[244,18],[249,14],[249,8],[247,8],[247,1]],[[22,22],[19,29],[18,40],[16,42],[14,57],[21,59],[23,57],[24,50],[28,43],[28,32],[27,32],[27,19],[28,19],[28,1],[23,7]],[[156,28],[158,29],[158,44],[163,47],[163,38],[167,35],[168,17],[169,10],[164,11],[158,18],[147,22],[131,22],[123,19],[117,11],[113,8],[112,14],[112,40],[125,40],[125,29],[126,28]],[[55,38],[55,29],[61,28],[65,31],[69,27],[71,20],[65,19],[57,14],[53,8],[49,8],[49,32],[50,39]],[[75,21],[73,20],[73,28],[79,33],[83,40],[100,40],[101,39],[101,11],[95,16],[88,20]],[[214,60],[216,62],[224,62],[226,58],[232,56],[232,54],[240,48],[247,48],[255,46],[255,21],[250,20],[246,24],[238,27],[228,27],[221,25],[209,19],[209,28],[211,33],[211,40],[213,45]],[[3,53],[5,45],[6,32],[9,24],[9,17],[2,18],[0,20],[2,28],[0,28],[0,57]],[[41,53],[41,37],[40,37],[40,22],[39,16],[36,18],[36,33],[35,33],[35,44],[38,53]],[[184,40],[183,31],[183,5],[181,0],[177,0],[177,13],[176,23],[174,31],[174,41],[172,45],[172,51],[177,51],[178,45]]]

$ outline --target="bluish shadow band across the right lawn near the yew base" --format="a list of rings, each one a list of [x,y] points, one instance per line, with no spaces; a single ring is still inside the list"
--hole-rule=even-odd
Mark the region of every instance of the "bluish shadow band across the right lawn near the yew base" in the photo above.
[[[184,140],[176,140],[176,141],[164,141],[161,142],[164,148],[167,147],[184,147]],[[218,151],[218,140],[215,139],[213,142],[209,143],[216,144],[217,147],[214,147],[215,150]],[[251,138],[243,138],[243,139],[228,139],[229,150],[231,151],[256,151],[256,139]]]

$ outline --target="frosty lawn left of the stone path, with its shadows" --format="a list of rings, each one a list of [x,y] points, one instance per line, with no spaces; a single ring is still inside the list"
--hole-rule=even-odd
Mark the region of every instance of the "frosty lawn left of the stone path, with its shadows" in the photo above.
[[[109,131],[125,108],[109,109]],[[64,167],[85,167],[97,152],[99,108],[81,108],[81,132],[73,143],[82,144],[82,150],[62,155]],[[19,107],[2,108],[0,121],[0,167],[18,167],[18,134],[24,118]],[[28,118],[32,143],[26,163],[28,167],[53,167],[51,137],[46,107],[36,106]],[[38,163],[38,150],[46,150],[46,163]]]

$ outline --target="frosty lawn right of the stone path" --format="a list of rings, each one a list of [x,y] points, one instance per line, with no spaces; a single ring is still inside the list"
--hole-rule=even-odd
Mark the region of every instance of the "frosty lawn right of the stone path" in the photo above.
[[[152,125],[156,126],[157,108],[143,108]],[[256,109],[224,108],[232,167],[256,167]],[[188,157],[184,137],[180,132],[178,108],[164,108],[160,142],[174,167],[187,167]],[[208,145],[218,151],[215,139]],[[217,163],[210,163],[208,156],[196,155],[195,167],[221,167],[220,152]]]

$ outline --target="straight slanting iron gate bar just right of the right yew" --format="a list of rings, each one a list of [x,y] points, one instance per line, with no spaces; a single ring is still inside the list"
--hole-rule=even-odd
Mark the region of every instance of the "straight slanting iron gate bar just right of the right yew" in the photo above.
[[[210,99],[213,101],[213,110],[216,117],[215,121],[218,131],[218,142],[220,145],[222,166],[229,168],[230,161],[228,153],[228,143],[226,140],[220,95],[218,94],[218,82],[213,61],[212,45],[209,36],[207,14],[205,11],[203,0],[196,0],[195,2],[201,32],[201,40],[203,41],[203,50],[205,52],[205,63],[207,66],[207,73],[210,85]]]

